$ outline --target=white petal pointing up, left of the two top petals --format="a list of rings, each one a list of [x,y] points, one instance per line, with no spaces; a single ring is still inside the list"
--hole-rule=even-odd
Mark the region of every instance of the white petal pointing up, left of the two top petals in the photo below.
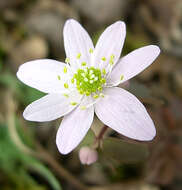
[[[78,62],[90,62],[90,49],[94,49],[91,38],[87,31],[73,19],[66,21],[64,30],[64,46],[66,56],[70,59],[71,65],[75,66]],[[80,59],[77,59],[77,55],[81,54]]]

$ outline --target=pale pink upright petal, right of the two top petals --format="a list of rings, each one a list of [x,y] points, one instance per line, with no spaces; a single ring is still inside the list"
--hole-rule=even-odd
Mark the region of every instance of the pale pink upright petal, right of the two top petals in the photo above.
[[[124,22],[117,21],[107,27],[96,44],[93,53],[93,66],[106,68],[109,66],[112,56],[113,63],[116,63],[120,57],[125,36],[126,26]]]

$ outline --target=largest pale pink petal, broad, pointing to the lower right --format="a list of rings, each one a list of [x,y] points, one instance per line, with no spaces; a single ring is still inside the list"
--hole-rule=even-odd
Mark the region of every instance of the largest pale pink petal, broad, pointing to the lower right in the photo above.
[[[122,135],[142,141],[152,140],[156,130],[143,104],[124,89],[106,88],[105,98],[95,105],[98,118]]]

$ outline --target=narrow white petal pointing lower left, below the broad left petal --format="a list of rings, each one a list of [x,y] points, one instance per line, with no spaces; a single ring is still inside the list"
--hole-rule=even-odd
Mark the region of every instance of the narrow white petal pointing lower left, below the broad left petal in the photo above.
[[[72,111],[76,105],[71,103],[79,104],[80,100],[81,96],[77,92],[72,92],[69,97],[62,94],[48,94],[28,105],[23,116],[29,121],[51,121]]]

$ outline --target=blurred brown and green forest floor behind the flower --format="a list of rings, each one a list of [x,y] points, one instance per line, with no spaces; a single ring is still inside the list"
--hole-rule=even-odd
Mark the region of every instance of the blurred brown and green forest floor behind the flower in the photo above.
[[[117,20],[127,25],[123,55],[156,44],[162,52],[125,86],[147,107],[156,138],[132,141],[107,130],[96,163],[80,163],[103,126],[97,119],[81,145],[59,154],[61,120],[25,121],[24,108],[44,94],[17,80],[18,67],[38,58],[64,60],[62,29],[75,18],[94,43]],[[182,1],[0,0],[0,190],[182,189]]]

